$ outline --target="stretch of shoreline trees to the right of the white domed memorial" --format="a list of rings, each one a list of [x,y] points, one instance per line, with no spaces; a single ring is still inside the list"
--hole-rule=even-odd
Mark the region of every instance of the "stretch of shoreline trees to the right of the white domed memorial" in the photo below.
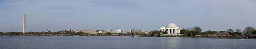
[[[236,32],[235,32],[236,31]],[[255,38],[256,36],[256,30],[253,27],[245,27],[243,31],[241,29],[228,29],[227,31],[204,31],[202,32],[202,29],[198,26],[191,27],[191,28],[183,28],[180,30],[180,34],[186,34],[190,36],[215,36],[215,37],[249,37],[249,38]]]

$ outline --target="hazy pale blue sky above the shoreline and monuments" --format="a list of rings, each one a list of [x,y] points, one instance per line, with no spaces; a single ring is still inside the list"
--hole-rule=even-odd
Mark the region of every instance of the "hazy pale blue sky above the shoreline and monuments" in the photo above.
[[[0,0],[0,32],[256,27],[256,0]]]

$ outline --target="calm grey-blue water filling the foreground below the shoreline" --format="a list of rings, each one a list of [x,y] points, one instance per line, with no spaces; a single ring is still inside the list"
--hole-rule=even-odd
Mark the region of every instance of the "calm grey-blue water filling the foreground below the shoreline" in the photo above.
[[[256,39],[0,36],[0,49],[256,49]]]

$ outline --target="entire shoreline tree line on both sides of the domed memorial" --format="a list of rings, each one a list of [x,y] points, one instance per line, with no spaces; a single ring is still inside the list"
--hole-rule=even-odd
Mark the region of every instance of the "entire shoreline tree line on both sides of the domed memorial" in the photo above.
[[[140,36],[157,36],[160,37],[161,33],[167,34],[167,31],[158,31],[158,30],[152,30],[149,33],[97,33],[97,34],[89,34],[84,32],[27,32],[25,35],[99,35],[99,36],[134,36],[134,35],[140,35]],[[180,34],[185,34],[189,36],[211,36],[211,37],[247,37],[247,38],[255,38],[256,37],[256,30],[253,27],[245,27],[242,31],[241,29],[236,29],[235,31],[233,29],[227,29],[227,31],[204,31],[202,32],[202,29],[198,26],[191,27],[191,28],[183,28],[180,30]],[[21,32],[9,32],[9,33],[3,33],[0,32],[0,35],[23,35]]]

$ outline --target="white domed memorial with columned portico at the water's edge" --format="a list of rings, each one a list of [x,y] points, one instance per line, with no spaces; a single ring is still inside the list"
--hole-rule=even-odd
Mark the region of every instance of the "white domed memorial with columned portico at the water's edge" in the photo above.
[[[166,27],[161,27],[161,31],[167,31],[167,35],[180,35],[180,27],[177,27],[173,23],[168,24]]]

